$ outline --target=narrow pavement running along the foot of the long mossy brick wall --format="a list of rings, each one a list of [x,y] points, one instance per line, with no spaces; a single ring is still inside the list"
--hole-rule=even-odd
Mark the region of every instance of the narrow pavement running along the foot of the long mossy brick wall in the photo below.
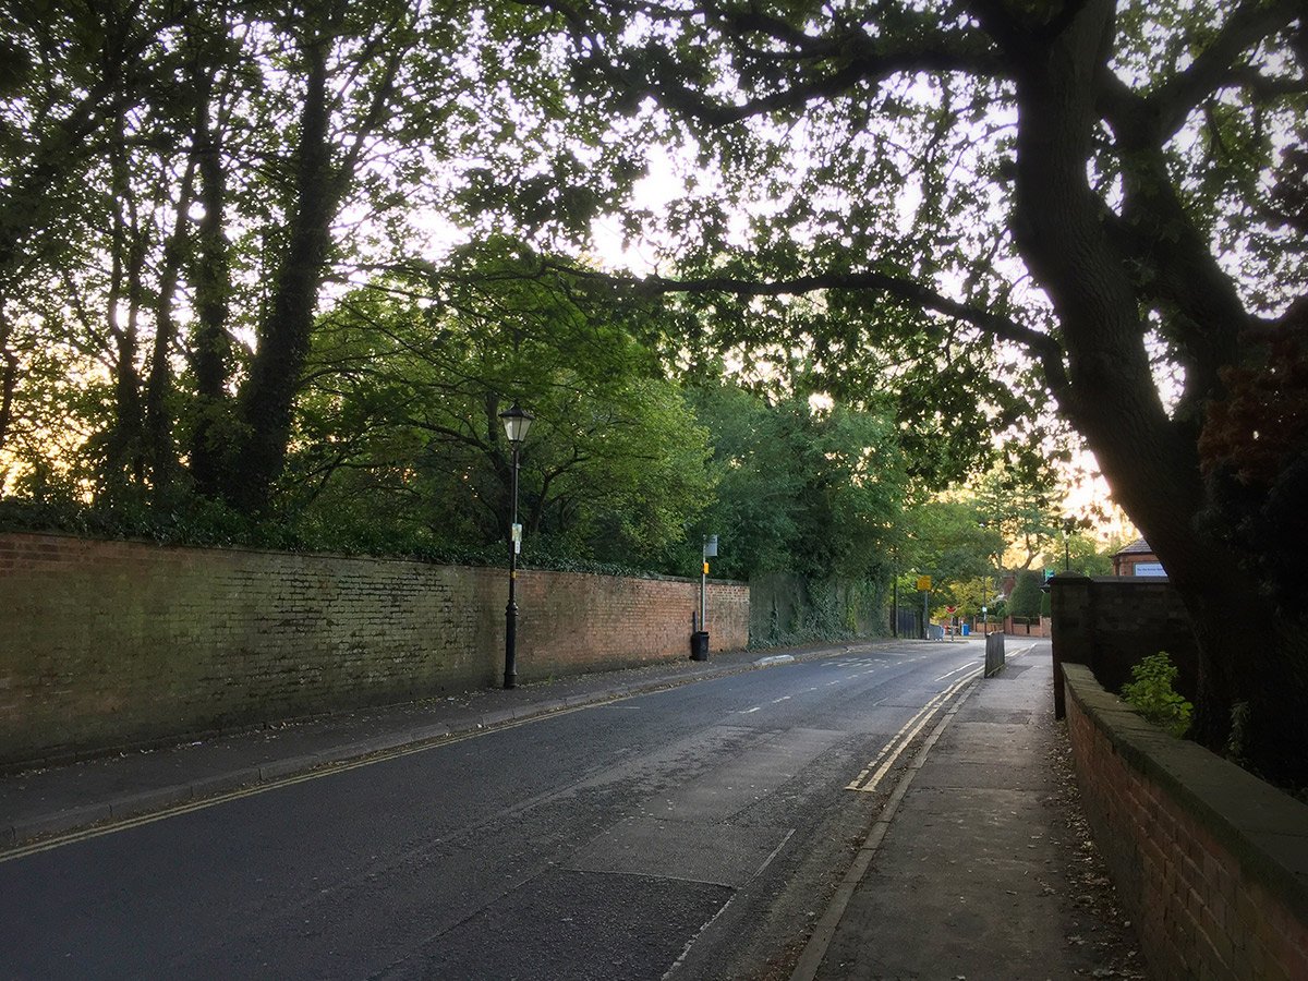
[[[160,749],[0,773],[0,855],[25,844],[184,806],[375,753],[519,719],[891,641],[730,651],[625,671],[487,688],[408,705],[235,731]],[[901,641],[895,641],[901,642]],[[912,642],[912,641],[908,641]]]

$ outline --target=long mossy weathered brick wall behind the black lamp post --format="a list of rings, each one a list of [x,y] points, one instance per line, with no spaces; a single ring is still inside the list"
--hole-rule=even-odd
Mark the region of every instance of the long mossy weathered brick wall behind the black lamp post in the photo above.
[[[0,535],[0,764],[496,683],[502,569]],[[749,594],[709,586],[714,650]],[[523,570],[518,678],[689,654],[698,582]]]

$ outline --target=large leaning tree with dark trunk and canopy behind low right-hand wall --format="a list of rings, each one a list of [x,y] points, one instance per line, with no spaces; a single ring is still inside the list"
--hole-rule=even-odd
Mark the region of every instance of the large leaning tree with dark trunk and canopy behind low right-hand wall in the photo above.
[[[1308,783],[1303,581],[1241,536],[1239,462],[1201,458],[1231,371],[1269,366],[1308,307],[1301,195],[1269,192],[1301,166],[1301,4],[538,5],[583,82],[714,167],[667,208],[678,275],[641,288],[744,298],[727,345],[897,364],[901,404],[965,443],[1050,395],[1185,602],[1199,738],[1220,747],[1243,704],[1254,764]],[[766,313],[795,294],[812,317]],[[1284,500],[1304,454],[1275,463]]]

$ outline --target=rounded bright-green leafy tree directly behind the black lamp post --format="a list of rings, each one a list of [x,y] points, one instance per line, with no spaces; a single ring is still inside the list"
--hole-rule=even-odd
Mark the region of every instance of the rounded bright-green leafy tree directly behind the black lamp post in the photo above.
[[[518,402],[535,416],[525,556],[650,568],[684,539],[712,500],[708,433],[634,324],[522,275],[519,247],[468,246],[320,319],[281,488],[288,521],[447,553],[502,543],[498,413]]]

